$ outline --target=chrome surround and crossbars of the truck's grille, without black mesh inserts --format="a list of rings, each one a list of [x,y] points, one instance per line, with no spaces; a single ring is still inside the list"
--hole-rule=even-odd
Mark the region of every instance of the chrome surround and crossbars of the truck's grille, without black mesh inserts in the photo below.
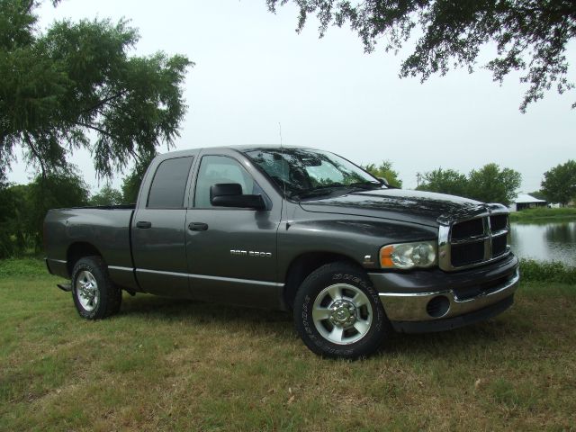
[[[491,204],[489,204],[491,205]],[[441,223],[438,228],[438,266],[440,269],[451,272],[455,270],[464,270],[466,268],[483,266],[492,261],[502,259],[503,257],[508,257],[510,254],[510,247],[507,244],[503,253],[496,256],[492,255],[492,240],[494,238],[499,238],[500,236],[508,236],[510,230],[510,221],[507,220],[506,227],[504,229],[497,229],[492,231],[491,229],[491,216],[506,214],[509,215],[509,211],[505,210],[491,210],[487,207],[486,212],[477,214],[471,218],[454,220],[449,224]],[[466,238],[452,238],[452,229],[455,224],[465,222],[466,220],[476,220],[482,219],[483,232],[480,235],[474,235]],[[472,243],[483,243],[484,254],[482,260],[466,264],[464,266],[454,266],[452,260],[452,247],[455,245],[466,245]]]

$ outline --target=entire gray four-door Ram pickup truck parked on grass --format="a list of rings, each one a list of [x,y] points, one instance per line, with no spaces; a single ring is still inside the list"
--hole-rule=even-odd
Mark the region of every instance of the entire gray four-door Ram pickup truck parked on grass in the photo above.
[[[508,211],[389,187],[327,151],[244,146],[158,156],[138,202],[51,210],[49,272],[88,320],[128,293],[293,311],[322,356],[505,311],[518,286]]]

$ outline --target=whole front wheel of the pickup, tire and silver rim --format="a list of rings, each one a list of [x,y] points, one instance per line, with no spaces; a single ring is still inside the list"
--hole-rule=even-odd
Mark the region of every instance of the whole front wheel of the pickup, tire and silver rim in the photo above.
[[[294,324],[320,356],[370,356],[391,333],[378,293],[365,272],[345,262],[311,273],[294,300]]]

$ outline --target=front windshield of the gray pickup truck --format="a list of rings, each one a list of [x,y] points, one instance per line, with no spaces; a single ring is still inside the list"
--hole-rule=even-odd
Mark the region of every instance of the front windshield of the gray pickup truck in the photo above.
[[[258,148],[246,155],[294,199],[382,187],[373,175],[328,151]]]

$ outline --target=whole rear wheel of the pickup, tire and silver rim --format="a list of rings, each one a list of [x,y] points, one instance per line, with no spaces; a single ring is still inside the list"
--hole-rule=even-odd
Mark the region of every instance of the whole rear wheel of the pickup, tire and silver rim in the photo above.
[[[84,257],[72,271],[72,298],[86,320],[102,320],[120,311],[122,291],[110,280],[102,257]]]

